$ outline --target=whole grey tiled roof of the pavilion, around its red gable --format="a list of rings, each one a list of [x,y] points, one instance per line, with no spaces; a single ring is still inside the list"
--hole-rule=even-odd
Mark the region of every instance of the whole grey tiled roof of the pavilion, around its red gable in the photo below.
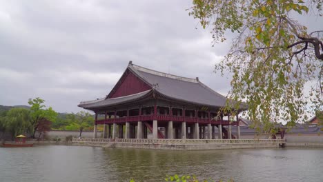
[[[126,77],[125,75],[127,72],[134,74],[137,79],[146,84],[144,91],[112,98],[113,94],[116,92],[115,90],[118,88],[118,85],[121,85],[124,81],[124,77]],[[204,85],[201,81],[199,81],[198,78],[190,79],[164,72],[158,72],[135,65],[132,63],[132,61],[130,61],[126,71],[105,99],[90,103],[81,102],[79,107],[90,110],[94,108],[108,107],[120,103],[134,101],[135,99],[141,99],[147,97],[153,92],[170,100],[192,103],[195,105],[205,105],[220,108],[226,103],[226,97],[215,92],[211,88],[208,88],[208,86]],[[244,107],[244,109],[246,108]]]

